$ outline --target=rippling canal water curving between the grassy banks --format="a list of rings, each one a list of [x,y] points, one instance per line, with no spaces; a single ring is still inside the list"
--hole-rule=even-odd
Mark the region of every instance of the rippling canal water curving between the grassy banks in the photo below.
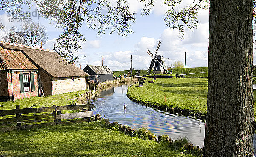
[[[176,140],[179,137],[187,137],[193,145],[203,148],[205,120],[192,116],[172,114],[163,110],[139,105],[127,98],[126,93],[130,85],[110,87],[101,92],[101,96],[91,99],[95,104],[94,114],[100,114],[108,118],[110,122],[128,124],[131,128],[148,128],[157,137],[169,135]],[[127,105],[124,110],[123,104]],[[256,136],[253,138],[254,150],[256,150]],[[256,154],[256,153],[255,153]]]

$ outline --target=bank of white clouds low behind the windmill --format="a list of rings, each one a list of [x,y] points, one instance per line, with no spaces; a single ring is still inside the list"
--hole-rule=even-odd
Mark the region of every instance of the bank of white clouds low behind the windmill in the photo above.
[[[178,37],[179,32],[176,29],[170,28],[163,30],[160,38],[141,37],[140,41],[135,44],[134,50],[107,52],[104,55],[104,65],[107,65],[114,71],[128,70],[132,55],[132,63],[135,70],[148,69],[152,58],[146,53],[147,49],[154,53],[158,41],[161,41],[157,54],[165,58],[166,66],[169,66],[174,61],[184,61],[186,52],[187,67],[206,67],[208,62],[207,24],[200,24],[199,29],[196,29],[194,32],[186,31],[185,39]],[[194,47],[195,45],[197,47]],[[92,63],[101,65],[100,60]]]

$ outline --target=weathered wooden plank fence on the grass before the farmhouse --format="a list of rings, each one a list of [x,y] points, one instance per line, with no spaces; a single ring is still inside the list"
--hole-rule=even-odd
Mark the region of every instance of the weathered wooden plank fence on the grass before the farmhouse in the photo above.
[[[92,120],[94,104],[82,104],[82,105],[68,105],[68,106],[56,106],[44,108],[22,108],[20,105],[16,105],[16,109],[13,110],[0,110],[0,116],[16,115],[16,117],[0,119],[0,131],[11,131],[16,129],[35,128],[38,126],[55,125],[58,123],[71,123],[71,122],[88,122]],[[63,110],[81,110],[82,112],[72,112],[61,114]],[[49,113],[52,112],[52,113]],[[42,113],[42,114],[38,114]],[[23,116],[25,114],[25,116]],[[93,117],[93,118],[92,118]],[[83,119],[77,119],[83,118]],[[61,122],[63,119],[64,122]],[[70,120],[76,119],[76,120]],[[13,126],[16,125],[17,126]]]

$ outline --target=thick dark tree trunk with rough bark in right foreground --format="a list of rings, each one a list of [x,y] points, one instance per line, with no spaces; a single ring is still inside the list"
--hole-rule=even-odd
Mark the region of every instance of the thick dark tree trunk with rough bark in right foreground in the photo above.
[[[210,0],[203,157],[253,157],[253,0]]]

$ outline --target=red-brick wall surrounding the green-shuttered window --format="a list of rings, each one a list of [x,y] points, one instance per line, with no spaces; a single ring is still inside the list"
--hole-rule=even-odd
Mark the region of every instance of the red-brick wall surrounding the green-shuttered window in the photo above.
[[[22,72],[14,72],[12,73],[12,84],[11,84],[11,74],[7,72],[8,79],[8,87],[9,87],[9,96],[12,96],[12,87],[13,87],[13,95],[14,101],[17,99],[29,98],[32,96],[38,96],[38,82],[37,82],[37,72],[24,72],[24,73],[34,73],[34,83],[35,83],[35,91],[20,93],[20,76]]]

